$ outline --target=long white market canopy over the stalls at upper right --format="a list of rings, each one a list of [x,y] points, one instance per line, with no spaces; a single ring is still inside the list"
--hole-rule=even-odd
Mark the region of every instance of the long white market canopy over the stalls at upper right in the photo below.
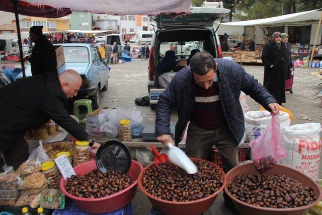
[[[304,11],[294,14],[287,14],[278,17],[270,17],[265,19],[248,20],[240,22],[221,23],[218,28],[218,34],[227,33],[228,35],[243,35],[246,26],[280,26],[280,25],[305,25],[310,21],[318,21],[322,9]],[[218,26],[219,23],[215,23]]]

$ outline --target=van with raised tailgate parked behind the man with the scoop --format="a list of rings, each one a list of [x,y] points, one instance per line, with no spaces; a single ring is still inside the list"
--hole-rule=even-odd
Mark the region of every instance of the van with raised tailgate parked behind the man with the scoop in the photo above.
[[[200,51],[207,51],[214,57],[222,57],[219,37],[213,27],[213,22],[228,14],[230,10],[218,7],[191,7],[191,13],[187,16],[172,18],[171,14],[151,15],[157,25],[157,31],[153,35],[150,48],[148,83],[147,88],[160,89],[158,73],[156,69],[165,52],[170,50],[171,44],[176,55],[183,59],[188,58],[191,50],[185,50],[187,44],[198,44]],[[192,48],[192,46],[191,46]],[[153,95],[153,97],[157,97]],[[150,96],[150,98],[152,98]],[[150,103],[155,108],[155,103]]]

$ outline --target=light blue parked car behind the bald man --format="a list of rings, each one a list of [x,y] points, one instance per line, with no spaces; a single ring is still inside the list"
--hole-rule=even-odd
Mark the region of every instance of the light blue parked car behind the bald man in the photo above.
[[[66,69],[73,69],[81,75],[83,83],[73,100],[91,99],[93,108],[98,109],[100,92],[107,91],[109,70],[103,63],[98,48],[88,43],[63,43],[65,63],[58,68],[58,74]],[[26,67],[26,77],[31,77],[31,66]],[[22,73],[18,76],[22,79]]]

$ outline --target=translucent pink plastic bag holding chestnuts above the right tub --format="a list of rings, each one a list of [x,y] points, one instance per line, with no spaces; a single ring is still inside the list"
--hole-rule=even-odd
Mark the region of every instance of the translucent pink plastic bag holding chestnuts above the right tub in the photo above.
[[[264,173],[287,155],[280,133],[280,120],[278,114],[272,115],[271,121],[264,130],[263,135],[250,142],[252,159],[255,168]]]

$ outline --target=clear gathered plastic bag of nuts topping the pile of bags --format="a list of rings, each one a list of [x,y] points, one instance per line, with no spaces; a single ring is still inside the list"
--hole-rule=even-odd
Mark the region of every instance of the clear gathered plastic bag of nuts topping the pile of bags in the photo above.
[[[50,161],[46,152],[41,148],[38,147],[34,149],[29,158],[20,165],[17,169],[17,172],[21,176],[30,175],[32,173],[40,172],[41,164],[45,163],[46,161]]]

